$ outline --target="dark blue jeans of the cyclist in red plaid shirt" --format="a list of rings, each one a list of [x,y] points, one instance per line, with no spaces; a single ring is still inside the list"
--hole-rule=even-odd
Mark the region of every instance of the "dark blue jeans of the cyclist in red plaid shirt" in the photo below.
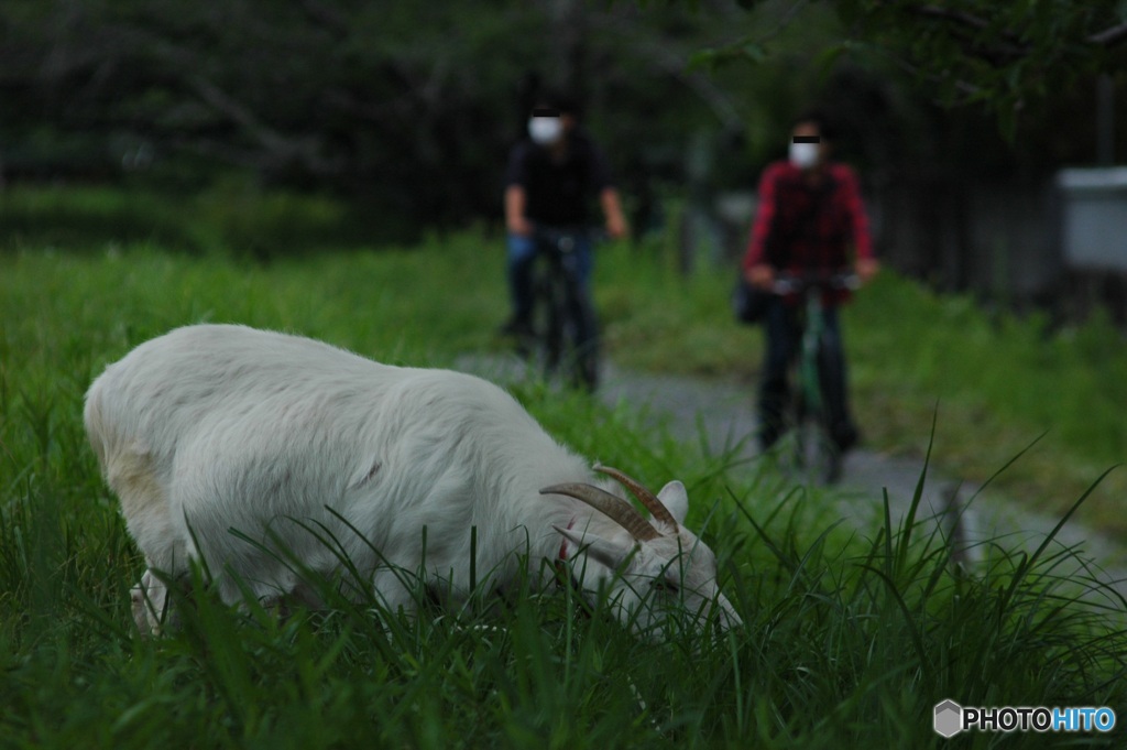
[[[798,358],[802,341],[802,310],[773,297],[767,303],[766,359],[760,382],[760,445],[766,450],[787,430],[787,409],[790,404],[790,385],[787,372]],[[818,356],[818,371],[829,431],[838,448],[848,450],[857,441],[857,427],[850,416],[849,391],[845,377],[845,352],[842,347],[841,324],[837,308],[825,309],[823,348]]]

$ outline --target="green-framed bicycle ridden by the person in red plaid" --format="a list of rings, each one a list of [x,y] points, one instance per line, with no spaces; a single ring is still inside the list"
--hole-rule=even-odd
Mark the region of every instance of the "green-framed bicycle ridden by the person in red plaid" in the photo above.
[[[795,468],[809,478],[833,484],[841,477],[842,452],[834,438],[828,407],[827,383],[841,382],[833,371],[838,361],[828,355],[824,295],[828,291],[858,289],[860,279],[852,273],[780,275],[771,291],[780,297],[797,294],[801,299],[797,323],[802,332],[796,358],[790,364],[791,415],[788,420],[793,434]],[[796,382],[797,381],[797,382]],[[844,394],[838,394],[844,398]]]

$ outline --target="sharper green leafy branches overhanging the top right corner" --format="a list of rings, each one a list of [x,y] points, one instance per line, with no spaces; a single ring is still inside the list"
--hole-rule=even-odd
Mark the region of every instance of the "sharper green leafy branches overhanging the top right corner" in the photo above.
[[[984,105],[1009,134],[1023,108],[1051,100],[1085,77],[1116,72],[1127,61],[1122,0],[788,0],[781,5],[791,11],[806,5],[836,11],[845,34],[826,48],[827,59],[857,53],[891,63],[943,105]],[[761,61],[769,52],[753,32],[706,51],[702,59]]]

